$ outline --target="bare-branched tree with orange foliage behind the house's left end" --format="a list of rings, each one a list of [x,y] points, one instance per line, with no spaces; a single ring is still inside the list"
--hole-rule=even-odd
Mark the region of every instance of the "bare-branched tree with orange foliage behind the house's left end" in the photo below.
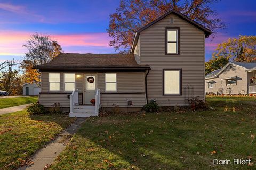
[[[33,67],[50,62],[54,57],[63,53],[62,48],[57,41],[38,33],[32,35],[24,46],[27,48],[27,52],[23,57],[21,67],[24,69],[25,82],[39,85],[40,74]]]

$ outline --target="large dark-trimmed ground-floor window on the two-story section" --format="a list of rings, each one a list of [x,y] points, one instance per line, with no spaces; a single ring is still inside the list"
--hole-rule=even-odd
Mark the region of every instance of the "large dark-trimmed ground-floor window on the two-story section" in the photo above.
[[[163,74],[163,95],[181,95],[181,69],[165,69]]]

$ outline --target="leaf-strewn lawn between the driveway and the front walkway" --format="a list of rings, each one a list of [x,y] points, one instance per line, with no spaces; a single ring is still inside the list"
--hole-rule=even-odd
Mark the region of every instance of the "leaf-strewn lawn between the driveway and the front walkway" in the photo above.
[[[16,169],[74,122],[66,114],[29,116],[19,111],[0,116],[0,169]]]

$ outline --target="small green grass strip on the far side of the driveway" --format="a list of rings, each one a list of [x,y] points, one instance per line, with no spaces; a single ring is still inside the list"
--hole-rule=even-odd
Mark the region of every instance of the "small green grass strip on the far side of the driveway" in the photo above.
[[[36,102],[37,99],[38,99],[37,96],[2,98],[2,99],[0,99],[0,109],[12,107],[12,106],[24,105],[24,104],[28,104],[28,103],[33,103],[33,102]]]

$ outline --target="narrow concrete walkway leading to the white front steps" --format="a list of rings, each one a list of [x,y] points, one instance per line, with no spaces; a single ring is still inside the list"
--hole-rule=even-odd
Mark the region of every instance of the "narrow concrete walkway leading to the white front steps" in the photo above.
[[[65,149],[71,136],[76,133],[84,121],[85,118],[77,118],[75,123],[63,131],[57,137],[57,139],[36,152],[36,154],[32,157],[34,162],[33,165],[27,167],[23,166],[18,170],[43,170],[45,167],[51,165],[54,162],[54,159],[60,154],[60,152]]]

